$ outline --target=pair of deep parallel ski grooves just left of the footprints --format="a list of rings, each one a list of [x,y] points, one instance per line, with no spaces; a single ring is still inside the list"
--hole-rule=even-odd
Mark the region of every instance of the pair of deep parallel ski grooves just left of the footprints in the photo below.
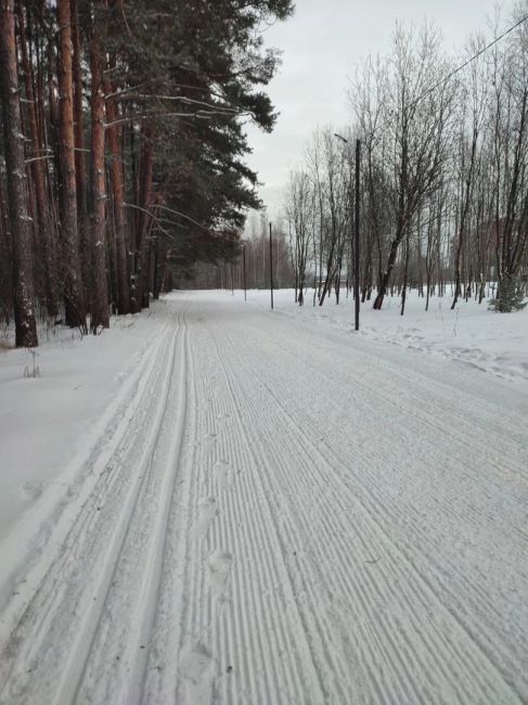
[[[160,589],[168,513],[176,486],[185,422],[185,372],[189,352],[188,328],[183,317],[178,321],[178,341],[181,343],[179,355],[176,356],[179,360],[178,374],[175,374],[172,358],[162,423],[138,495],[141,511],[136,510],[131,514],[131,525],[127,531],[128,544],[124,546],[115,563],[113,578],[116,578],[116,587],[105,600],[105,612],[101,615],[98,628],[99,640],[94,639],[92,649],[94,656],[85,666],[82,688],[76,694],[76,700],[80,702],[117,702],[116,693],[119,692],[119,684],[125,681],[127,692],[120,696],[121,702],[133,705],[141,700]],[[164,438],[167,435],[168,443]],[[157,467],[159,472],[156,472]],[[157,516],[153,515],[151,507],[155,509]],[[103,620],[105,625],[101,625]],[[105,663],[108,659],[112,662],[113,658],[118,658],[119,667],[114,669],[113,682],[106,679],[103,688],[99,675],[104,670]]]

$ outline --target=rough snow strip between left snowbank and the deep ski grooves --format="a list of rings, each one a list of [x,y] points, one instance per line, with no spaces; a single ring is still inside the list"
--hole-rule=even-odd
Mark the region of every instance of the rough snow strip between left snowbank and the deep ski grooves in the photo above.
[[[75,696],[159,436],[177,335],[178,329],[162,339],[153,361],[158,364],[120,428],[111,464],[74,518],[2,654],[2,703],[67,703]]]

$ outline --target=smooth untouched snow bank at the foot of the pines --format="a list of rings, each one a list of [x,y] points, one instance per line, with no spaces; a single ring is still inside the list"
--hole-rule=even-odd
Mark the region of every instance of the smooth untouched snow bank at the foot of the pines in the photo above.
[[[26,367],[33,372],[28,350],[0,348],[0,542],[44,490],[48,503],[63,496],[75,479],[68,469],[80,465],[98,421],[160,324],[154,307],[152,315],[113,319],[96,337],[64,328],[48,336],[41,331],[35,379],[24,376]]]

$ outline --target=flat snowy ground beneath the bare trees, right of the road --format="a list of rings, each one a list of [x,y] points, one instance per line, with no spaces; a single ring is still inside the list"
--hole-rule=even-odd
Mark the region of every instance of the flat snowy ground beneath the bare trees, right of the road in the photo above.
[[[235,292],[235,296],[241,293]],[[247,299],[269,306],[270,295],[252,291]],[[313,307],[312,300],[312,290],[301,308],[294,304],[293,291],[274,293],[278,312],[308,324],[353,331],[351,298],[342,295],[336,306],[335,297],[331,297],[322,307]],[[528,307],[514,313],[495,313],[488,309],[487,300],[479,305],[462,299],[454,310],[451,303],[451,296],[434,296],[425,311],[425,299],[412,291],[401,316],[399,297],[387,297],[381,311],[366,302],[361,307],[360,335],[471,364],[503,379],[528,380]]]

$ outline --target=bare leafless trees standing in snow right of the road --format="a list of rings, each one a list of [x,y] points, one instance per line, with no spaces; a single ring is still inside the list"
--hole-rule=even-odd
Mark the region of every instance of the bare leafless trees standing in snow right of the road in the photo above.
[[[429,25],[398,28],[387,56],[369,57],[349,89],[350,125],[314,132],[289,179],[297,298],[317,282],[323,304],[351,282],[355,142],[361,140],[360,289],[452,287],[482,300],[497,283],[511,310],[528,279],[528,3],[493,37],[475,36],[455,63]],[[504,35],[501,37],[501,35]],[[501,37],[501,38],[500,38]],[[467,64],[460,68],[463,64]],[[337,132],[337,133],[336,133]]]

